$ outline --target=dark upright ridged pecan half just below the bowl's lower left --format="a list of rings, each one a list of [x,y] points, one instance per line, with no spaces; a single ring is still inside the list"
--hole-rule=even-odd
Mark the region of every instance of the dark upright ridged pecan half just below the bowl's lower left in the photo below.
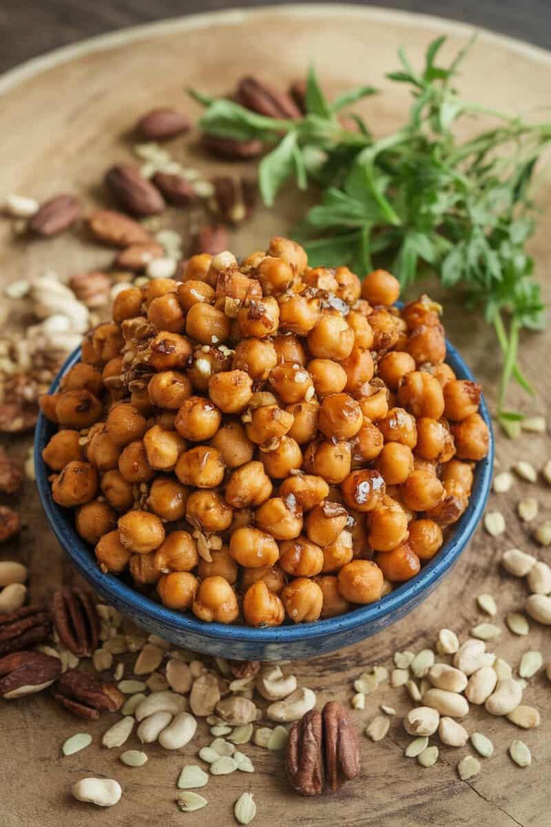
[[[92,595],[79,586],[55,592],[52,616],[59,640],[78,657],[89,657],[97,649],[99,617]]]

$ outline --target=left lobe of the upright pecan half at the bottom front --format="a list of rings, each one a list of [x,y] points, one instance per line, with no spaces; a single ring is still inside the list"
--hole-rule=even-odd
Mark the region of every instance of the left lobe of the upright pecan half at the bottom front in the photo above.
[[[310,710],[292,724],[287,740],[285,770],[289,783],[302,796],[323,792],[321,714]]]

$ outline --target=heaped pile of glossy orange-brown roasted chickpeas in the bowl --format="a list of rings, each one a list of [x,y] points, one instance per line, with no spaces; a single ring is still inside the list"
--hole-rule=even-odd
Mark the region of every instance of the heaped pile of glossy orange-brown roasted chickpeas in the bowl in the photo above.
[[[488,450],[441,308],[386,270],[273,238],[116,296],[40,400],[56,503],[102,571],[164,606],[267,627],[373,603],[463,514]]]

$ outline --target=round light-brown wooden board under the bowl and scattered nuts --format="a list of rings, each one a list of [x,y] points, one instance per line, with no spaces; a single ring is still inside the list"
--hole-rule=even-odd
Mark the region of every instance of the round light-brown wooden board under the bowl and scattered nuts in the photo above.
[[[98,188],[103,171],[129,154],[126,131],[152,105],[197,108],[187,103],[183,88],[188,84],[210,92],[224,92],[242,74],[255,73],[285,84],[304,73],[309,60],[316,60],[321,79],[330,92],[358,83],[373,83],[387,89],[382,74],[397,65],[396,50],[405,44],[418,64],[427,43],[437,34],[449,33],[448,54],[462,45],[468,27],[359,7],[295,7],[259,12],[230,12],[169,22],[121,32],[78,47],[62,50],[34,61],[0,79],[0,106],[4,114],[0,192],[11,191],[46,198],[74,189],[87,204],[102,203]],[[549,55],[514,41],[482,33],[477,48],[464,65],[460,86],[467,98],[511,112],[549,103]],[[378,133],[395,128],[404,116],[408,100],[393,88],[364,106],[369,122]],[[177,147],[178,157],[188,155],[190,165],[212,170],[211,162],[192,143]],[[216,165],[227,170],[228,165]],[[232,169],[239,169],[232,167]],[[549,212],[551,186],[542,191],[544,211]],[[235,251],[242,253],[263,246],[270,235],[284,232],[300,213],[293,193],[278,203],[273,213],[259,210],[254,221],[235,235]],[[174,227],[185,227],[183,213],[168,218]],[[547,213],[532,243],[539,275],[549,299],[551,221]],[[63,277],[93,265],[106,264],[111,254],[89,245],[84,237],[66,234],[53,241],[14,241],[7,222],[0,225],[0,280],[2,284],[21,276],[40,275],[53,268]],[[17,314],[16,317],[17,318]],[[478,375],[492,401],[499,360],[491,332],[459,304],[447,308],[445,322]],[[22,332],[21,332],[22,335]],[[525,337],[523,356],[535,377],[539,397],[530,410],[545,413],[549,394],[547,359],[549,336]],[[515,401],[515,399],[511,400]],[[520,400],[527,404],[527,400]],[[10,450],[23,455],[26,440],[9,440]],[[547,436],[507,442],[498,436],[501,466],[515,459],[531,458],[541,466],[549,452]],[[515,483],[511,495],[493,495],[492,504],[506,514],[507,531],[493,540],[480,530],[448,580],[401,623],[354,648],[310,662],[293,665],[302,684],[318,692],[320,702],[330,698],[349,700],[351,681],[363,667],[373,663],[389,666],[397,649],[414,651],[433,646],[442,626],[464,638],[482,619],[475,598],[492,592],[499,605],[496,622],[503,626],[496,651],[515,667],[528,648],[539,649],[545,660],[551,656],[549,631],[532,624],[530,641],[515,638],[503,622],[506,611],[518,609],[525,596],[523,584],[501,576],[498,557],[513,545],[533,551],[545,559],[515,516],[515,504],[530,486]],[[536,495],[541,513],[549,516],[551,490],[539,488]],[[531,493],[531,492],[530,492]],[[74,572],[59,551],[30,483],[22,504],[25,526],[18,538],[2,546],[0,558],[20,558],[31,566],[31,595],[50,595],[60,582],[73,581]],[[253,758],[253,776],[235,773],[212,779],[206,789],[207,810],[183,815],[173,803],[174,783],[184,762],[196,755],[190,746],[177,754],[150,746],[145,769],[130,769],[118,762],[116,753],[97,746],[99,736],[110,725],[108,716],[88,724],[58,710],[46,697],[36,697],[0,707],[2,762],[0,791],[2,827],[94,827],[106,823],[121,827],[145,827],[162,821],[167,827],[184,823],[233,824],[231,806],[245,790],[254,792],[258,815],[254,821],[266,825],[330,827],[335,822],[351,825],[530,825],[549,824],[549,682],[538,676],[525,691],[525,702],[542,712],[539,729],[521,733],[513,724],[490,719],[474,710],[468,729],[478,729],[492,738],[496,753],[482,760],[482,773],[469,782],[458,779],[455,766],[468,748],[442,748],[439,762],[430,770],[402,757],[407,737],[400,717],[393,719],[390,734],[373,744],[362,739],[363,769],[359,779],[340,794],[305,800],[289,791],[283,780],[278,755],[260,748],[246,748]],[[404,712],[409,705],[401,690],[380,689],[369,696],[366,710],[357,713],[359,724],[367,723],[387,703]],[[60,757],[60,747],[70,734],[89,731],[93,746],[71,758]],[[197,741],[205,743],[205,731]],[[521,770],[512,764],[507,748],[512,739],[530,745],[532,767]],[[127,746],[137,748],[131,739]],[[86,775],[116,777],[124,788],[121,803],[112,810],[78,805],[70,785]]]

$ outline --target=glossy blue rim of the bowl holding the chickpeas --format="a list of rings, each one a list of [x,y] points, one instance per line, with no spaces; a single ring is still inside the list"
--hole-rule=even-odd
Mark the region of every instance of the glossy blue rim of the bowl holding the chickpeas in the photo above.
[[[64,361],[53,381],[49,393],[54,393],[59,386],[62,376],[79,361],[81,347],[76,348]],[[456,375],[461,379],[475,381],[473,373],[468,368],[458,351],[446,340],[445,361],[454,369]],[[49,431],[53,423],[50,423],[40,412],[36,423],[34,459],[36,471],[36,485],[39,491],[40,500],[45,509],[46,517],[53,529],[55,536],[71,559],[77,566],[78,571],[104,595],[109,595],[113,602],[129,614],[139,614],[147,617],[157,624],[164,624],[165,627],[178,627],[180,633],[201,634],[207,638],[216,638],[217,641],[226,640],[228,643],[282,643],[285,639],[288,643],[293,641],[304,641],[325,637],[329,633],[343,632],[356,629],[362,625],[377,623],[390,614],[400,614],[401,609],[406,609],[412,601],[425,590],[430,591],[454,566],[468,541],[472,538],[477,524],[482,517],[483,510],[487,504],[492,483],[492,468],[494,456],[494,437],[492,431],[492,418],[487,408],[486,401],[481,396],[480,414],[487,424],[490,440],[487,457],[477,462],[473,490],[469,497],[468,508],[455,523],[454,533],[447,543],[439,550],[438,554],[425,566],[423,566],[411,581],[401,584],[393,589],[375,603],[359,605],[358,608],[350,609],[344,614],[332,618],[312,621],[306,624],[283,624],[265,629],[259,629],[245,624],[220,624],[206,623],[196,619],[192,614],[183,614],[173,609],[166,609],[163,605],[155,603],[150,597],[140,594],[138,590],[127,586],[111,574],[104,574],[99,566],[93,551],[88,543],[80,538],[69,522],[67,513],[69,509],[63,509],[57,505],[51,495],[51,487],[48,481],[50,470],[42,459],[42,449],[49,437]]]

